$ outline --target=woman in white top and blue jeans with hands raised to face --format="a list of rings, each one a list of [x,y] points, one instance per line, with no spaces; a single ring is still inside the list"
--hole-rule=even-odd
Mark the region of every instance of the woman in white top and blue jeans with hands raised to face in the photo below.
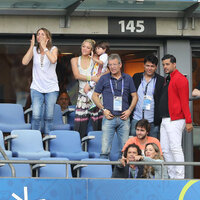
[[[44,117],[44,133],[47,134],[52,129],[54,104],[59,92],[56,75],[58,49],[52,46],[51,33],[46,28],[37,31],[36,40],[37,47],[35,36],[32,35],[30,47],[22,59],[22,64],[28,65],[33,59],[30,87],[33,109],[32,129],[41,130],[41,118]]]

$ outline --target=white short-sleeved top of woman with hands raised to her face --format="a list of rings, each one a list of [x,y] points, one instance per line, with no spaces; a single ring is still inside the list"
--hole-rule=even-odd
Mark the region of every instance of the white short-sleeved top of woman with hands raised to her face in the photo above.
[[[54,48],[56,47],[53,46],[50,51]],[[56,64],[57,62],[52,64],[46,54],[43,56],[39,54],[37,48],[34,47],[31,89],[41,93],[59,91]]]

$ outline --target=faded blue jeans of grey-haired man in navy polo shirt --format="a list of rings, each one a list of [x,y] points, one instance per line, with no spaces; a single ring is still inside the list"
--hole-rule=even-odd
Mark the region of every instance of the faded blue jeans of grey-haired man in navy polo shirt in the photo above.
[[[119,141],[119,150],[121,152],[124,144],[128,140],[130,131],[130,119],[122,120],[120,117],[114,117],[113,119],[103,118],[102,122],[102,148],[101,158],[108,158],[112,146],[112,140],[116,132]],[[121,157],[121,155],[119,155]]]

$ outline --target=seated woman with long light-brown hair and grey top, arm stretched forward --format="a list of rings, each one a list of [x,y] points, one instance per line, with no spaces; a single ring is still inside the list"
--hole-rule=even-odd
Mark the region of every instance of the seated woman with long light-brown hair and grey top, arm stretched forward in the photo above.
[[[135,161],[157,162],[157,163],[164,162],[160,154],[160,150],[155,143],[146,144],[144,154],[145,156],[140,156],[140,155],[135,156]],[[167,179],[168,178],[167,167],[164,167],[163,173],[164,173],[163,177]],[[162,178],[161,165],[144,166],[143,177],[152,179],[161,179]]]

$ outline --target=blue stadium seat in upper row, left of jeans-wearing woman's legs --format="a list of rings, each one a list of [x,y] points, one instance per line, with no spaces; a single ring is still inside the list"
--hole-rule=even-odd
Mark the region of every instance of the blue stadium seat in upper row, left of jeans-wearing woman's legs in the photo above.
[[[0,103],[0,130],[10,133],[18,129],[31,129],[31,124],[25,123],[22,105]]]

